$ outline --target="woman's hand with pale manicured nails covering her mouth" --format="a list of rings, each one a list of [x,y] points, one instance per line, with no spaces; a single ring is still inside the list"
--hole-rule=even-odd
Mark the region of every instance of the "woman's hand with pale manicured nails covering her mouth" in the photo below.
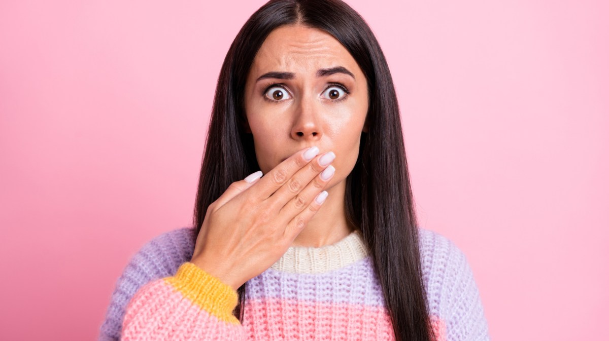
[[[238,289],[286,252],[325,201],[334,153],[300,150],[266,176],[233,182],[209,205],[191,262]]]

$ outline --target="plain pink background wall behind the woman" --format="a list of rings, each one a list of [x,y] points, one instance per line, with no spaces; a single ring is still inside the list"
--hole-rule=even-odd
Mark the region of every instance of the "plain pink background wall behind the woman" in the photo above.
[[[130,257],[191,222],[220,64],[262,3],[1,2],[1,339],[95,339]],[[465,252],[493,340],[609,339],[608,3],[349,3],[420,224]]]

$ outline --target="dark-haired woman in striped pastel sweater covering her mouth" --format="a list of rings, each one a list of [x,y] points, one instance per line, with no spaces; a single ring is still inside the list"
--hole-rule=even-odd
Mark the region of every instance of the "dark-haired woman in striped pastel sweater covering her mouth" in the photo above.
[[[272,0],[242,27],[194,226],[136,255],[100,339],[488,339],[465,257],[417,228],[387,63],[340,0]]]

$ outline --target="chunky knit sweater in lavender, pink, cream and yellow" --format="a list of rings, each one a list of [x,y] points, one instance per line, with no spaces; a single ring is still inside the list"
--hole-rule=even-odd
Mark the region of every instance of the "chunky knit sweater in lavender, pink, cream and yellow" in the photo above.
[[[438,341],[489,340],[465,255],[420,229],[423,280]],[[100,341],[395,340],[389,311],[359,232],[322,247],[290,247],[247,282],[242,323],[237,292],[190,263],[191,229],[147,243],[111,296]]]

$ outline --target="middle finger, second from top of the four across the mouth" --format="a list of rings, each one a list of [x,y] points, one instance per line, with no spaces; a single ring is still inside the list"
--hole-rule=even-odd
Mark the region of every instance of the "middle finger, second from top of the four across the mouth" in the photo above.
[[[333,152],[329,151],[328,153],[324,153],[315,159],[313,159],[309,164],[305,167],[301,168],[292,176],[286,184],[281,186],[278,190],[273,193],[273,195],[269,198],[275,207],[279,210],[284,207],[286,203],[293,198],[295,198],[300,191],[303,190],[306,186],[311,183],[311,180],[318,176],[318,174],[322,173],[326,169],[328,171],[334,170],[334,168],[328,168],[328,165],[334,161],[336,156]],[[326,175],[331,175],[326,171]],[[334,172],[332,172],[334,173]],[[326,180],[328,180],[326,178]],[[313,182],[313,186],[320,184],[319,182]],[[323,187],[318,187],[317,193],[321,191]],[[315,195],[317,194],[315,193]]]

